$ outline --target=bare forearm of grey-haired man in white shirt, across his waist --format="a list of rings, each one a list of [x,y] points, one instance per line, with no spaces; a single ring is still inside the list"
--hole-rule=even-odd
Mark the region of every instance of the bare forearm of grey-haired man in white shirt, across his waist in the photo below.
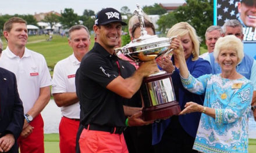
[[[79,101],[76,92],[54,93],[53,96],[58,107],[69,106]]]

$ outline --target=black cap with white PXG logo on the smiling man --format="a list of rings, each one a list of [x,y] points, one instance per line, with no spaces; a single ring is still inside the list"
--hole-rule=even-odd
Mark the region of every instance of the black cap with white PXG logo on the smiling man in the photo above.
[[[121,13],[113,8],[102,9],[95,19],[95,25],[104,25],[112,22],[120,22],[122,25],[127,25],[122,21]]]

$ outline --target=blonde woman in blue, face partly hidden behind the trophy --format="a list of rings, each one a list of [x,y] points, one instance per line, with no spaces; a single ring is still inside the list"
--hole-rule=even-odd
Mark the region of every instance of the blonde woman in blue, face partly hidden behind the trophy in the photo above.
[[[198,58],[200,41],[195,29],[186,22],[173,25],[168,31],[167,37],[180,36],[183,56],[189,67],[191,75],[195,78],[211,73],[211,66],[208,61]],[[172,81],[175,89],[176,100],[180,107],[188,101],[195,101],[203,104],[204,96],[190,93],[186,90],[180,80],[180,63],[173,53],[172,58],[160,57],[157,59],[160,68],[172,73]],[[192,150],[201,112],[194,112],[187,115],[172,116],[153,125],[153,144],[157,152],[196,152]],[[166,149],[169,148],[169,149]]]

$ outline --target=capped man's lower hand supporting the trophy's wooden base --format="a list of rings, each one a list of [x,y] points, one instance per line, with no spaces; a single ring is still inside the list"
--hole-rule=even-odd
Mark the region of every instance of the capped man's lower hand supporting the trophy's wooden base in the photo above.
[[[136,112],[136,114],[131,115],[130,117],[128,117],[128,125],[129,126],[142,126],[142,125],[148,125],[150,123],[153,123],[154,121],[143,121],[143,119],[141,119],[141,114],[142,112]]]

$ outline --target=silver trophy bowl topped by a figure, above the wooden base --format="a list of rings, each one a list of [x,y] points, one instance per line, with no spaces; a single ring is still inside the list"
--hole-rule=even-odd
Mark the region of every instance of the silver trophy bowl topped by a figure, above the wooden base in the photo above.
[[[159,56],[166,56],[172,53],[172,49],[169,49],[170,41],[176,37],[159,38],[157,35],[148,35],[145,30],[143,10],[138,4],[134,14],[138,16],[138,20],[140,21],[141,36],[138,39],[133,39],[131,43],[122,48],[116,48],[116,55],[122,59],[120,54],[123,54],[137,63],[140,61],[154,60]]]

